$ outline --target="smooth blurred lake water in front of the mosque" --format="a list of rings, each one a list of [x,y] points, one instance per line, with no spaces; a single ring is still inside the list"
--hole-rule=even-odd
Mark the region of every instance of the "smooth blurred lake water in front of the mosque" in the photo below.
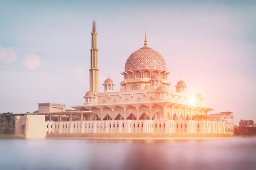
[[[256,170],[256,137],[0,139],[0,170]]]

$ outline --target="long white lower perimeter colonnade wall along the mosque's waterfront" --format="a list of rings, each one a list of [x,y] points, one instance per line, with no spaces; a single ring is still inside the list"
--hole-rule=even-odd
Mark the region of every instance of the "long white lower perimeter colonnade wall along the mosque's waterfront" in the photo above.
[[[46,121],[47,133],[225,133],[224,121]]]

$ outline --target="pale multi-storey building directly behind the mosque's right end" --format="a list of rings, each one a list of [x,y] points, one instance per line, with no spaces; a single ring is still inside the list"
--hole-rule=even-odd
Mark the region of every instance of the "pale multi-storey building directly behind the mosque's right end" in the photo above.
[[[220,112],[216,114],[209,115],[210,120],[214,121],[225,121],[226,132],[234,133],[234,116],[233,112]]]

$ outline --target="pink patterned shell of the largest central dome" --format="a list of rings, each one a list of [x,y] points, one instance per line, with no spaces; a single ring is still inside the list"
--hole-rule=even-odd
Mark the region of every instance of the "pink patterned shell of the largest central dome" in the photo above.
[[[125,63],[125,71],[141,68],[166,70],[166,63],[158,51],[143,47],[133,52]]]

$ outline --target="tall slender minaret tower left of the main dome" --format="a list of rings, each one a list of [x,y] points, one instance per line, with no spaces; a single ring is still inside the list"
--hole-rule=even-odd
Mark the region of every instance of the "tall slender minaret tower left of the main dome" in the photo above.
[[[90,71],[90,90],[98,93],[98,50],[97,50],[97,32],[95,22],[93,22],[92,49],[91,49],[91,68]]]

